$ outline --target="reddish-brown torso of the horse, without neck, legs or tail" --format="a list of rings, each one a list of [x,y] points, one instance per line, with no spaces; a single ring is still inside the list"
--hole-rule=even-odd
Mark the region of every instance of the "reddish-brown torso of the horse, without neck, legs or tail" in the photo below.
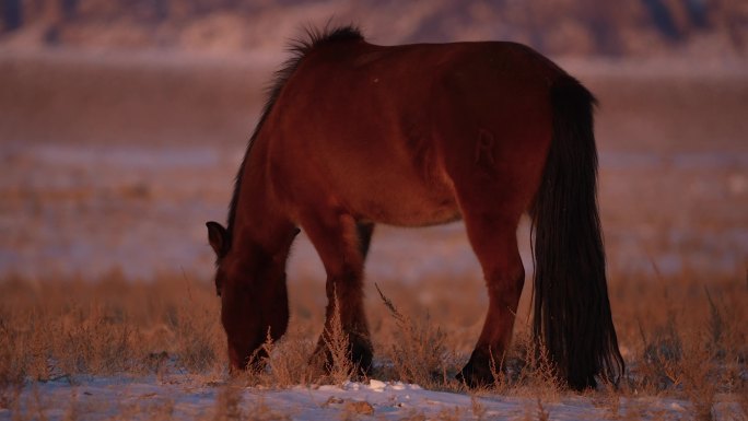
[[[303,188],[287,185],[287,194],[332,197],[360,219],[457,219],[452,173],[476,165],[481,142],[527,138],[492,162],[545,154],[548,86],[559,73],[512,43],[323,45],[300,62],[266,121],[276,178],[301,175]]]

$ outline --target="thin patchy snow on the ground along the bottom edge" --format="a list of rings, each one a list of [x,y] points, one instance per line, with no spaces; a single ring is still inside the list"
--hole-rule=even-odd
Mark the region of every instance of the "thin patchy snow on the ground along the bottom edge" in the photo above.
[[[541,394],[541,393],[539,393]],[[425,390],[399,382],[295,386],[287,389],[227,386],[184,375],[62,378],[24,387],[20,408],[0,409],[0,420],[215,419],[222,412],[261,420],[605,420],[691,419],[691,405],[670,398],[616,398],[575,394],[505,397]],[[231,402],[235,402],[232,406]],[[544,418],[544,413],[548,418]],[[739,417],[735,404],[718,404],[716,419]],[[73,418],[70,418],[70,417]]]

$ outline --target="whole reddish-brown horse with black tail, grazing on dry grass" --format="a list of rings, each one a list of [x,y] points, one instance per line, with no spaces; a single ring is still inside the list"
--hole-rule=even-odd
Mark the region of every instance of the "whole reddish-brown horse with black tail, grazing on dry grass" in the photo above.
[[[384,47],[339,27],[311,31],[292,50],[239,167],[227,227],[207,223],[232,366],[257,369],[268,332],[285,332],[285,264],[299,227],[327,272],[326,327],[338,312],[365,371],[362,283],[374,224],[461,218],[489,309],[458,377],[492,382],[524,284],[516,229],[528,212],[536,340],[569,386],[617,382],[623,360],[597,211],[592,94],[513,43]],[[315,355],[325,358],[323,337]]]

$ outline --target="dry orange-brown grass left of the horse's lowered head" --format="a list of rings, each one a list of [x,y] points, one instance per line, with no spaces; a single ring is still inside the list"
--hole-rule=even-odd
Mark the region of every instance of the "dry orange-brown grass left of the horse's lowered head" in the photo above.
[[[0,305],[0,382],[79,374],[222,372],[219,303],[179,278],[132,285],[118,278],[5,279]],[[8,387],[5,387],[8,388]]]

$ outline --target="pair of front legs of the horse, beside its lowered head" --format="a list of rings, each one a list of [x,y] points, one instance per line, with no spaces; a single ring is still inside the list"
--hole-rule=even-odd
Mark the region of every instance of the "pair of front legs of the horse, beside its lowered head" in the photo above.
[[[337,330],[334,325],[339,320],[352,362],[361,372],[366,372],[372,363],[372,343],[363,309],[363,259],[374,225],[357,225],[351,215],[330,212],[327,215],[307,215],[303,218],[302,226],[327,272],[325,330],[313,362],[322,362],[328,370],[331,367],[328,344],[336,340],[332,337]]]

